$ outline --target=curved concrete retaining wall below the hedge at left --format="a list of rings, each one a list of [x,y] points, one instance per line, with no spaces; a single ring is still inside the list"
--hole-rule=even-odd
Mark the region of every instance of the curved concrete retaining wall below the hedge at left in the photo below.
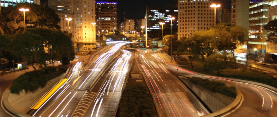
[[[68,73],[63,73],[59,77],[56,77],[48,81],[47,85],[44,88],[39,88],[36,92],[25,93],[23,90],[19,95],[10,93],[11,91],[7,89],[3,94],[3,103],[4,106],[14,113],[15,115],[27,113],[30,110],[30,107],[39,100],[48,90],[50,90],[57,82],[59,82],[65,75]],[[19,116],[19,115],[18,115]]]

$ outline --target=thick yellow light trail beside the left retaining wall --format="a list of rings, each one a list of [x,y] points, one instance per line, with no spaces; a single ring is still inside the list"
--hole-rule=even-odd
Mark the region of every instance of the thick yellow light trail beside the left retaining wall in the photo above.
[[[31,109],[39,109],[40,106],[53,94],[55,93],[55,91],[57,91],[58,88],[60,88],[61,85],[63,85],[63,83],[66,82],[66,80],[68,80],[68,78],[64,78],[62,80],[60,80],[60,82],[58,82],[54,87],[52,87],[50,89],[50,91],[48,91],[45,95],[43,95],[42,98],[39,99],[39,101],[37,101],[32,107]]]

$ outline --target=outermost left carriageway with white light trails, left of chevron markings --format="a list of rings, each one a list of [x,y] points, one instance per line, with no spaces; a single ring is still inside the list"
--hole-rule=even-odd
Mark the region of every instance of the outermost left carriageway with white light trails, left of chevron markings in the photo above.
[[[96,97],[96,93],[87,91],[98,73],[110,63],[111,58],[116,54],[124,44],[115,44],[114,46],[108,47],[97,54],[88,65],[84,66],[83,62],[77,62],[71,69],[69,76],[64,78],[61,82],[60,87],[53,87],[53,95],[47,96],[41,101],[39,100],[30,111],[31,116],[74,116],[83,115],[89,108],[89,101]],[[59,83],[57,83],[59,85]],[[50,90],[50,91],[52,91]],[[49,93],[50,94],[50,93]],[[84,99],[84,97],[86,97]],[[84,100],[83,100],[84,99]],[[88,102],[81,103],[80,102]],[[78,107],[81,108],[78,108]]]

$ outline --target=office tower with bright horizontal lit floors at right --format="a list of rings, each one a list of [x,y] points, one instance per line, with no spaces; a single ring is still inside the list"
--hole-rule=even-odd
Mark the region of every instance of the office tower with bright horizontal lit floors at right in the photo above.
[[[267,24],[267,12],[268,0],[250,0],[248,49],[255,53],[256,48],[260,60],[264,59],[266,50],[267,32],[263,25]]]

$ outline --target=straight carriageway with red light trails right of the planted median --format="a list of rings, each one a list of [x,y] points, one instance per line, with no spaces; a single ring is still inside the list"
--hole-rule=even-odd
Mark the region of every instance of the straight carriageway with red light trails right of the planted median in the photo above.
[[[167,70],[153,51],[140,51],[135,62],[152,92],[160,117],[198,117],[209,114],[204,106]]]

